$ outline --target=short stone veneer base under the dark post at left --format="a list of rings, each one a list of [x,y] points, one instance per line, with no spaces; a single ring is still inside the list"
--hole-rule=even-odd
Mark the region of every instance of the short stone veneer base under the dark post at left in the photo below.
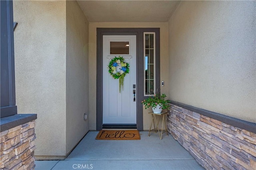
[[[1,169],[30,170],[35,168],[35,121],[13,127],[0,133]]]

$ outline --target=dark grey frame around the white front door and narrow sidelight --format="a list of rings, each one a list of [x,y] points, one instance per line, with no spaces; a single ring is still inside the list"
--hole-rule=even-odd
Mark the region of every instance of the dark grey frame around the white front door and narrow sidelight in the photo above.
[[[114,128],[137,128],[143,130],[143,105],[144,96],[144,32],[156,33],[156,87],[160,87],[160,28],[97,28],[97,76],[96,76],[96,130],[102,130],[103,117],[103,35],[136,35],[136,127],[116,125]],[[142,67],[140,67],[142,66]],[[159,75],[159,76],[158,76]]]

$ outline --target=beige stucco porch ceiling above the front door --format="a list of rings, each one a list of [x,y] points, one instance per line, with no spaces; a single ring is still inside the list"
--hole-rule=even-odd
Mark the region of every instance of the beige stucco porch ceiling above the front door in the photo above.
[[[180,1],[78,0],[90,22],[166,22]]]

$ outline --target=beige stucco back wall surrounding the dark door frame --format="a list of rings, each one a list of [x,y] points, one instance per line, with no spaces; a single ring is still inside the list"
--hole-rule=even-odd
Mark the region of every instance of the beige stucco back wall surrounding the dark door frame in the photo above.
[[[91,22],[89,24],[89,113],[90,113],[90,130],[96,130],[96,28],[116,27],[116,28],[143,28],[157,27],[160,28],[160,81],[164,81],[164,87],[161,86],[161,92],[168,95],[168,23],[130,23],[130,22]],[[168,97],[168,96],[167,96]],[[141,105],[142,107],[142,105]],[[143,129],[149,129],[150,115],[147,113],[150,109],[143,109]]]

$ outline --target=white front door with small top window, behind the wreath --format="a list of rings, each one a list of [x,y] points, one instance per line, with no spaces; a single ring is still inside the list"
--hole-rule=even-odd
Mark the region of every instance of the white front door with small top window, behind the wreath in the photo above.
[[[108,72],[109,62],[118,56],[130,65],[121,93],[119,79]],[[103,124],[136,124],[136,35],[103,35],[102,70]]]

